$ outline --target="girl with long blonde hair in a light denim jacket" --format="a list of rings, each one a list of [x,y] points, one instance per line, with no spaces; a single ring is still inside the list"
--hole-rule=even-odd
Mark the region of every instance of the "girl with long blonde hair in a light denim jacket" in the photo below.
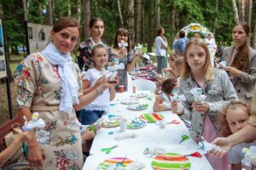
[[[191,121],[191,136],[196,141],[203,136],[208,142],[218,137],[218,110],[228,100],[236,100],[236,91],[227,73],[211,67],[207,44],[192,38],[185,48],[179,94],[184,94],[183,109],[177,110],[177,102],[172,102],[172,112]],[[191,90],[201,88],[206,101],[195,101]],[[213,169],[230,169],[227,159],[207,156]]]

